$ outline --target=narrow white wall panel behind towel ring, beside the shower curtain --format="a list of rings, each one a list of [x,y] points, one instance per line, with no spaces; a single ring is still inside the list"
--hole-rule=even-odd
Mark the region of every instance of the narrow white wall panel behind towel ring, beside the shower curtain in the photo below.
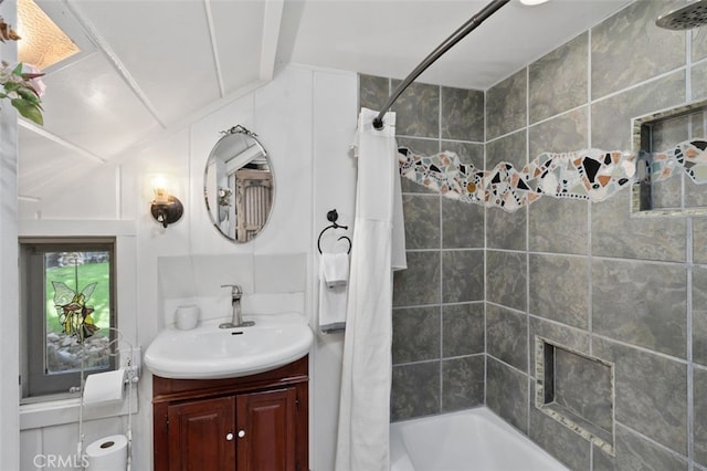
[[[354,75],[315,74],[313,126],[314,140],[314,231],[312,241],[316,245],[319,231],[329,224],[327,211],[336,209],[339,224],[348,226],[348,236],[354,234],[354,208],[356,193],[356,166],[348,155],[348,145],[356,129],[358,105],[358,81]],[[354,93],[349,90],[354,87]],[[346,93],[342,93],[346,91]],[[335,237],[331,237],[334,233]],[[323,250],[340,250],[333,241],[344,233],[327,231],[321,238]],[[318,296],[316,268],[318,251],[313,249],[315,273],[312,280],[312,305]],[[313,308],[314,311],[314,308]],[[312,402],[314,423],[309,437],[315,443],[314,457],[309,464],[316,471],[334,469],[336,447],[336,425],[339,410],[339,386],[341,379],[341,357],[344,334],[319,335],[315,337],[315,381]]]

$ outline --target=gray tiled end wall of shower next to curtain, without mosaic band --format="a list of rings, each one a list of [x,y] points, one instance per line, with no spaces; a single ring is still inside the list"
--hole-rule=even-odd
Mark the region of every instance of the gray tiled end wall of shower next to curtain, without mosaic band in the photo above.
[[[379,109],[398,81],[360,76]],[[484,164],[484,92],[413,84],[393,106],[398,144]],[[393,281],[391,420],[484,404],[484,208],[403,180],[408,270]]]

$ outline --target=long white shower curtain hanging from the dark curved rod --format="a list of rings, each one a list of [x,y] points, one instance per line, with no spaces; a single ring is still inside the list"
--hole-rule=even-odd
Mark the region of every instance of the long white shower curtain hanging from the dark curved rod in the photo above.
[[[392,270],[405,268],[395,114],[358,121],[358,184],[341,368],[337,471],[389,471]]]

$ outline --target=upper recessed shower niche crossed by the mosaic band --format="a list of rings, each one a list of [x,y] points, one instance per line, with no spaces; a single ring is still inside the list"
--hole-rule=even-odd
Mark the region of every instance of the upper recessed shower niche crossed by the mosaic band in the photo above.
[[[634,216],[707,214],[707,101],[633,119]]]

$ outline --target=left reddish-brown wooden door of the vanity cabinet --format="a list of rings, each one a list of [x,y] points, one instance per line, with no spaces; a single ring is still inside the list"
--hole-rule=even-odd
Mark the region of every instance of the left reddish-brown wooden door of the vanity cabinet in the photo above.
[[[167,408],[170,471],[235,470],[235,398]]]

